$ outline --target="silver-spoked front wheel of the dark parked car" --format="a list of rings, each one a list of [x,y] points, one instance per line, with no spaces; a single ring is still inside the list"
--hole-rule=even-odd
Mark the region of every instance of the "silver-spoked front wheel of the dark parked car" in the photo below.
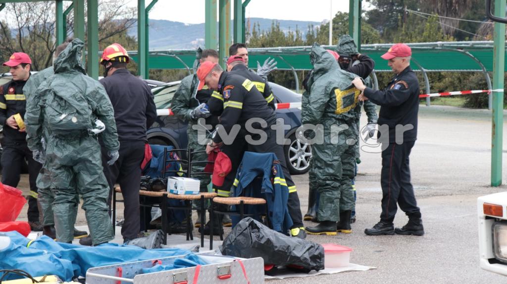
[[[289,172],[291,174],[304,174],[308,172],[312,158],[312,147],[296,139],[295,133],[289,136],[288,139],[291,143],[285,145],[284,150]]]

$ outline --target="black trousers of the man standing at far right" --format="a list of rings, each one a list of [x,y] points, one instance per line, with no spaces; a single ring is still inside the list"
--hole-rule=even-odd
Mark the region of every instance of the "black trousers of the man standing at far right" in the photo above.
[[[401,145],[390,143],[382,152],[382,214],[380,219],[392,223],[394,215],[400,209],[407,215],[420,212],[415,200],[414,188],[410,183],[409,156],[414,141]]]

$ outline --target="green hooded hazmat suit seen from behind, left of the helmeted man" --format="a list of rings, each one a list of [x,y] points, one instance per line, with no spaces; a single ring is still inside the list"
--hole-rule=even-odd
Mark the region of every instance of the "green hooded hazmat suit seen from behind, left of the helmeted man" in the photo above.
[[[75,39],[58,56],[55,74],[27,102],[25,122],[30,150],[46,153],[43,168],[47,175],[39,182],[49,185],[54,196],[57,240],[74,239],[76,194],[80,194],[92,242],[98,245],[113,240],[114,235],[107,213],[109,186],[102,172],[100,145],[97,136],[90,135],[87,129],[93,128],[94,119],[100,119],[105,124],[100,133],[105,148],[118,151],[120,144],[111,101],[103,86],[86,75],[81,60],[83,46],[80,39]],[[53,98],[61,98],[60,104],[52,103]],[[65,123],[67,128],[57,128],[56,125],[62,127],[58,122]],[[77,126],[73,129],[72,125]],[[45,149],[42,138],[46,141]]]

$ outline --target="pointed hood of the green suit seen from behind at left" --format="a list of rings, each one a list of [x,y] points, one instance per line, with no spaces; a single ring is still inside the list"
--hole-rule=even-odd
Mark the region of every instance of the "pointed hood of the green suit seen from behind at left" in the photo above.
[[[85,43],[81,39],[76,38],[67,45],[55,60],[54,71],[62,72],[79,72],[86,75],[85,66],[83,65],[83,48]]]

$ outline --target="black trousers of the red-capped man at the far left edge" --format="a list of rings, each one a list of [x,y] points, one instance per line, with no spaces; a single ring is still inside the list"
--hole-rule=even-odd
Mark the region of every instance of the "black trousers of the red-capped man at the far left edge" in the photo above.
[[[8,127],[8,126],[7,126]],[[30,195],[28,196],[28,221],[39,221],[39,208],[37,206],[37,176],[42,164],[33,160],[32,152],[28,149],[26,141],[13,141],[4,138],[2,154],[2,183],[17,187],[24,160],[28,161],[28,175],[30,182]]]

